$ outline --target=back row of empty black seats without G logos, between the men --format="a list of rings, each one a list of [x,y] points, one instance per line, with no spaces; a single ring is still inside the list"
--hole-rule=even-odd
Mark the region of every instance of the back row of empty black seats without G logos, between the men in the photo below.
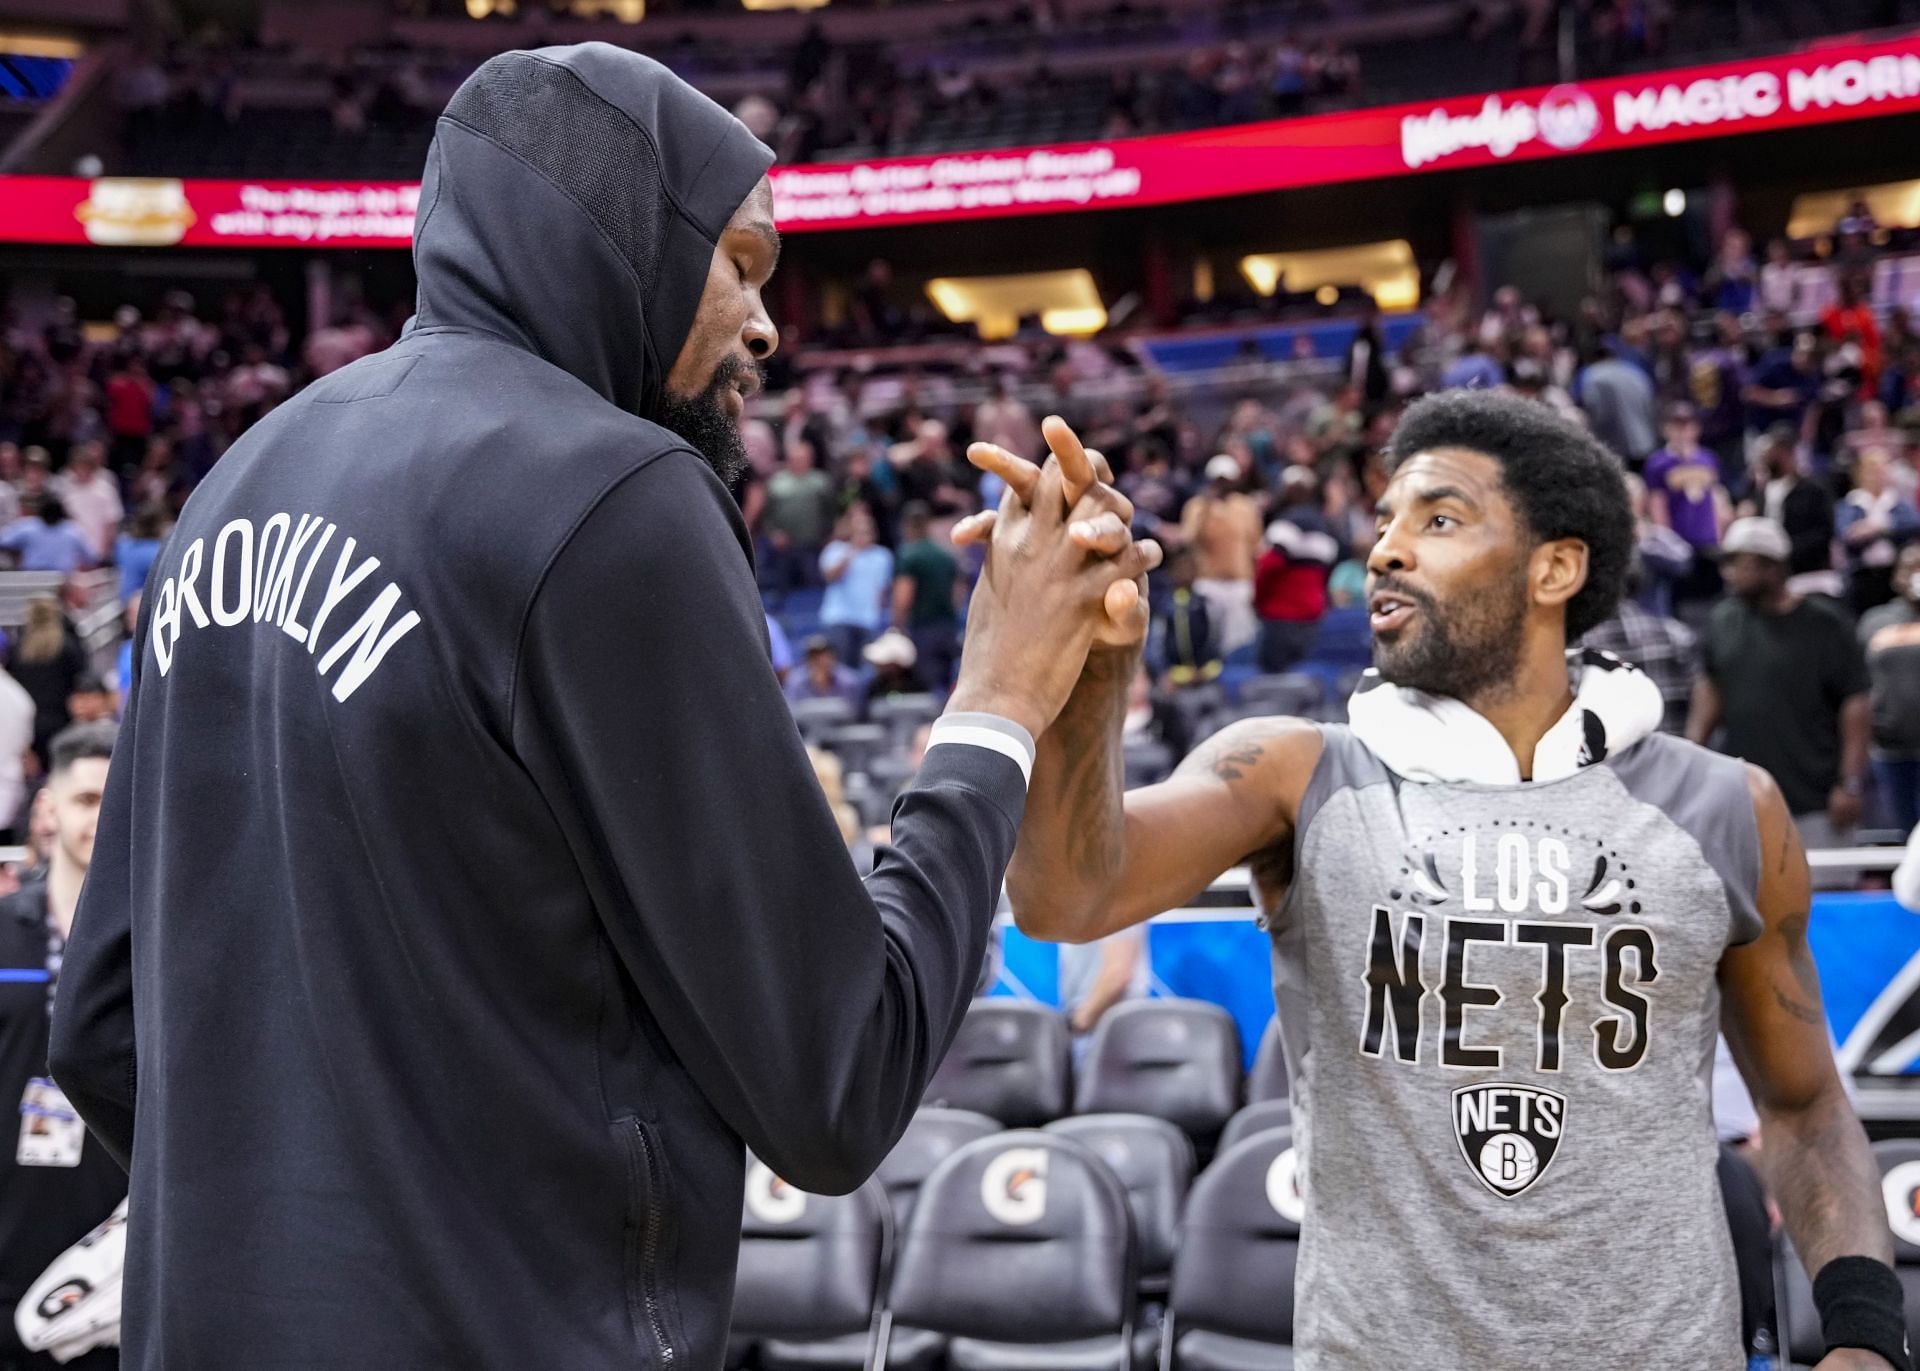
[[[1066,1018],[1044,1004],[973,1000],[927,1085],[927,1102],[973,1110],[1008,1127],[1068,1114],[1152,1114],[1206,1152],[1240,1106],[1240,1033],[1206,1000],[1127,1000],[1094,1027],[1079,1079]],[[1269,1023],[1246,1098],[1286,1094],[1286,1058]]]

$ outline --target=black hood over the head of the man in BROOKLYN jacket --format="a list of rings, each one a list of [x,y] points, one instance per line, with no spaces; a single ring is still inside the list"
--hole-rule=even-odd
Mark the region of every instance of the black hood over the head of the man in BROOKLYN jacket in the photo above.
[[[653,413],[720,230],[772,163],[739,119],[637,52],[492,58],[426,154],[413,326],[497,334]]]

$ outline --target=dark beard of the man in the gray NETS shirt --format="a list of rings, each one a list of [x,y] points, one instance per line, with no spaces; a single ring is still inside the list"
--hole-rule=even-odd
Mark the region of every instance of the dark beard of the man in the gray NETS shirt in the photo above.
[[[1392,576],[1380,578],[1375,589],[1388,589],[1419,607],[1394,643],[1373,641],[1373,664],[1388,684],[1471,703],[1519,674],[1526,634],[1523,578],[1490,586],[1452,609],[1440,609],[1432,595]]]

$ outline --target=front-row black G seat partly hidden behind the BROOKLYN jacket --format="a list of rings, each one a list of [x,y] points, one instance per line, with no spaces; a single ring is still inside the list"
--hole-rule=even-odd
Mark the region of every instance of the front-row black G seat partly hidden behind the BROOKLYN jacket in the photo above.
[[[893,1267],[887,1192],[808,1194],[749,1158],[741,1204],[735,1338],[879,1338]]]

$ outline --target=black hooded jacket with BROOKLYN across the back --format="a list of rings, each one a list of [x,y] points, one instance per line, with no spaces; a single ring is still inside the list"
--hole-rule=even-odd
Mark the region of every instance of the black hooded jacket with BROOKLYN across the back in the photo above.
[[[912,1116],[1021,766],[929,749],[862,883],[739,515],[637,417],[768,161],[630,52],[488,61],[415,326],[188,501],[54,1014],[125,1365],[718,1367],[743,1141],[847,1191]]]

